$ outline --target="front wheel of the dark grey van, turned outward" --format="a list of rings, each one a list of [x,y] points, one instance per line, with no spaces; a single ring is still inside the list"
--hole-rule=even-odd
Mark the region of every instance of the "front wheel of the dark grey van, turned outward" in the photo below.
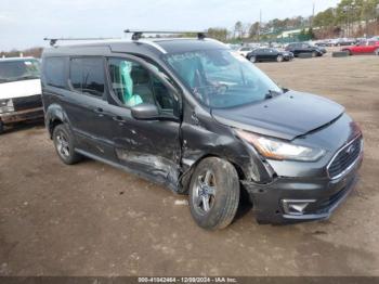
[[[195,222],[207,230],[226,228],[236,215],[239,191],[232,164],[217,157],[201,160],[190,183],[190,209]]]

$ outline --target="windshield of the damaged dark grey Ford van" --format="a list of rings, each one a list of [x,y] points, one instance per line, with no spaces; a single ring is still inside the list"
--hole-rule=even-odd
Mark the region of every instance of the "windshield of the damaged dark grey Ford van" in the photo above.
[[[232,50],[168,54],[166,61],[194,96],[211,108],[250,104],[283,92],[264,73]]]

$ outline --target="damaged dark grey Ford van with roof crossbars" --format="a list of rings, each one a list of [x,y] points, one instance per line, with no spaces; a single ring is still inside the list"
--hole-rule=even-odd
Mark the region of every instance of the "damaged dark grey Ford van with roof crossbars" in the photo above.
[[[202,37],[47,49],[42,93],[65,164],[87,156],[188,193],[206,229],[232,222],[240,191],[261,223],[328,218],[363,159],[341,105],[282,89]]]

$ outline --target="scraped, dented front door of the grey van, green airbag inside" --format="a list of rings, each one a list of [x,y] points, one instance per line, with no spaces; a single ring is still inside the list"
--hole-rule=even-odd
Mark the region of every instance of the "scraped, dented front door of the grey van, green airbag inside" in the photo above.
[[[107,59],[108,139],[119,164],[174,184],[181,155],[179,98],[147,67],[146,62],[133,56]],[[139,104],[156,105],[162,118],[135,119],[131,108]]]

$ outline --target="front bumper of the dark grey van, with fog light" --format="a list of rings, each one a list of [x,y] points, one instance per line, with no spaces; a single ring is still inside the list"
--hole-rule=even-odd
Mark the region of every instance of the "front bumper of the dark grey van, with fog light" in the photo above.
[[[243,181],[260,223],[295,223],[327,219],[358,180],[361,153],[355,165],[339,179],[278,177],[270,184]]]

